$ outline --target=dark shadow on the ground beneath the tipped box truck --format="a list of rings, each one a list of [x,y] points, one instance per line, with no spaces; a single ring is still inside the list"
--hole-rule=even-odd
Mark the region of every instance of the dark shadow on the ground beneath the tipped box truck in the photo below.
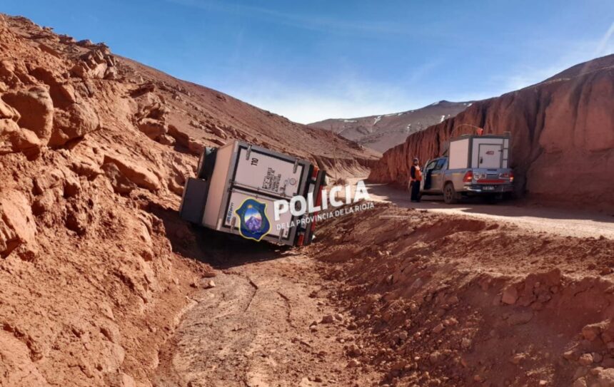
[[[256,242],[205,227],[191,225],[173,208],[149,203],[147,209],[164,225],[166,237],[176,254],[210,264],[214,269],[229,269],[252,262],[278,259],[291,247]]]

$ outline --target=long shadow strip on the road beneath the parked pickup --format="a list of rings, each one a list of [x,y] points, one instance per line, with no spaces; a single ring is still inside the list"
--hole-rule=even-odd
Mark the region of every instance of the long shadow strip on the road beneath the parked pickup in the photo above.
[[[455,205],[446,205],[442,196],[424,195],[421,202],[411,202],[409,192],[386,184],[368,184],[367,190],[373,200],[392,202],[400,207],[418,208],[423,210],[441,210],[442,212],[456,210],[466,214],[483,214],[501,217],[536,217],[551,220],[590,220],[611,226],[613,215],[603,212],[570,210],[568,207],[545,207],[524,200],[505,200],[503,202],[487,203],[480,197],[463,199]]]

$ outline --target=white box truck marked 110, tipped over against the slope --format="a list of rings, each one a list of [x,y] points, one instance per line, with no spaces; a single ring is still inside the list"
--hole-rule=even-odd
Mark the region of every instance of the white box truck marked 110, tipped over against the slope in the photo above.
[[[325,178],[311,162],[233,140],[204,151],[196,178],[186,182],[179,212],[183,220],[247,239],[306,245],[316,224],[301,223],[290,211],[275,220],[273,202],[309,192],[318,198]]]

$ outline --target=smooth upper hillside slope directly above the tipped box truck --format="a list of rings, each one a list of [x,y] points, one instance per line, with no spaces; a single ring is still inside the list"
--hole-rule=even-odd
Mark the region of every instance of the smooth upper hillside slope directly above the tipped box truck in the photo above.
[[[240,138],[313,160],[375,160],[379,153],[364,149],[326,130],[293,123],[204,86],[180,81],[127,58],[118,58],[119,73],[131,83],[152,87],[170,109],[168,123],[203,143]],[[153,83],[154,86],[150,86]],[[143,86],[140,86],[141,88]],[[300,144],[300,146],[297,146]]]

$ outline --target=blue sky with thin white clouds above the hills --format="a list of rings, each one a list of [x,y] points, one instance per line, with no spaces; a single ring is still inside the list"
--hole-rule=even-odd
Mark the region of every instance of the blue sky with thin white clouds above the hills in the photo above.
[[[498,96],[614,53],[612,0],[0,0],[0,12],[301,123]]]

